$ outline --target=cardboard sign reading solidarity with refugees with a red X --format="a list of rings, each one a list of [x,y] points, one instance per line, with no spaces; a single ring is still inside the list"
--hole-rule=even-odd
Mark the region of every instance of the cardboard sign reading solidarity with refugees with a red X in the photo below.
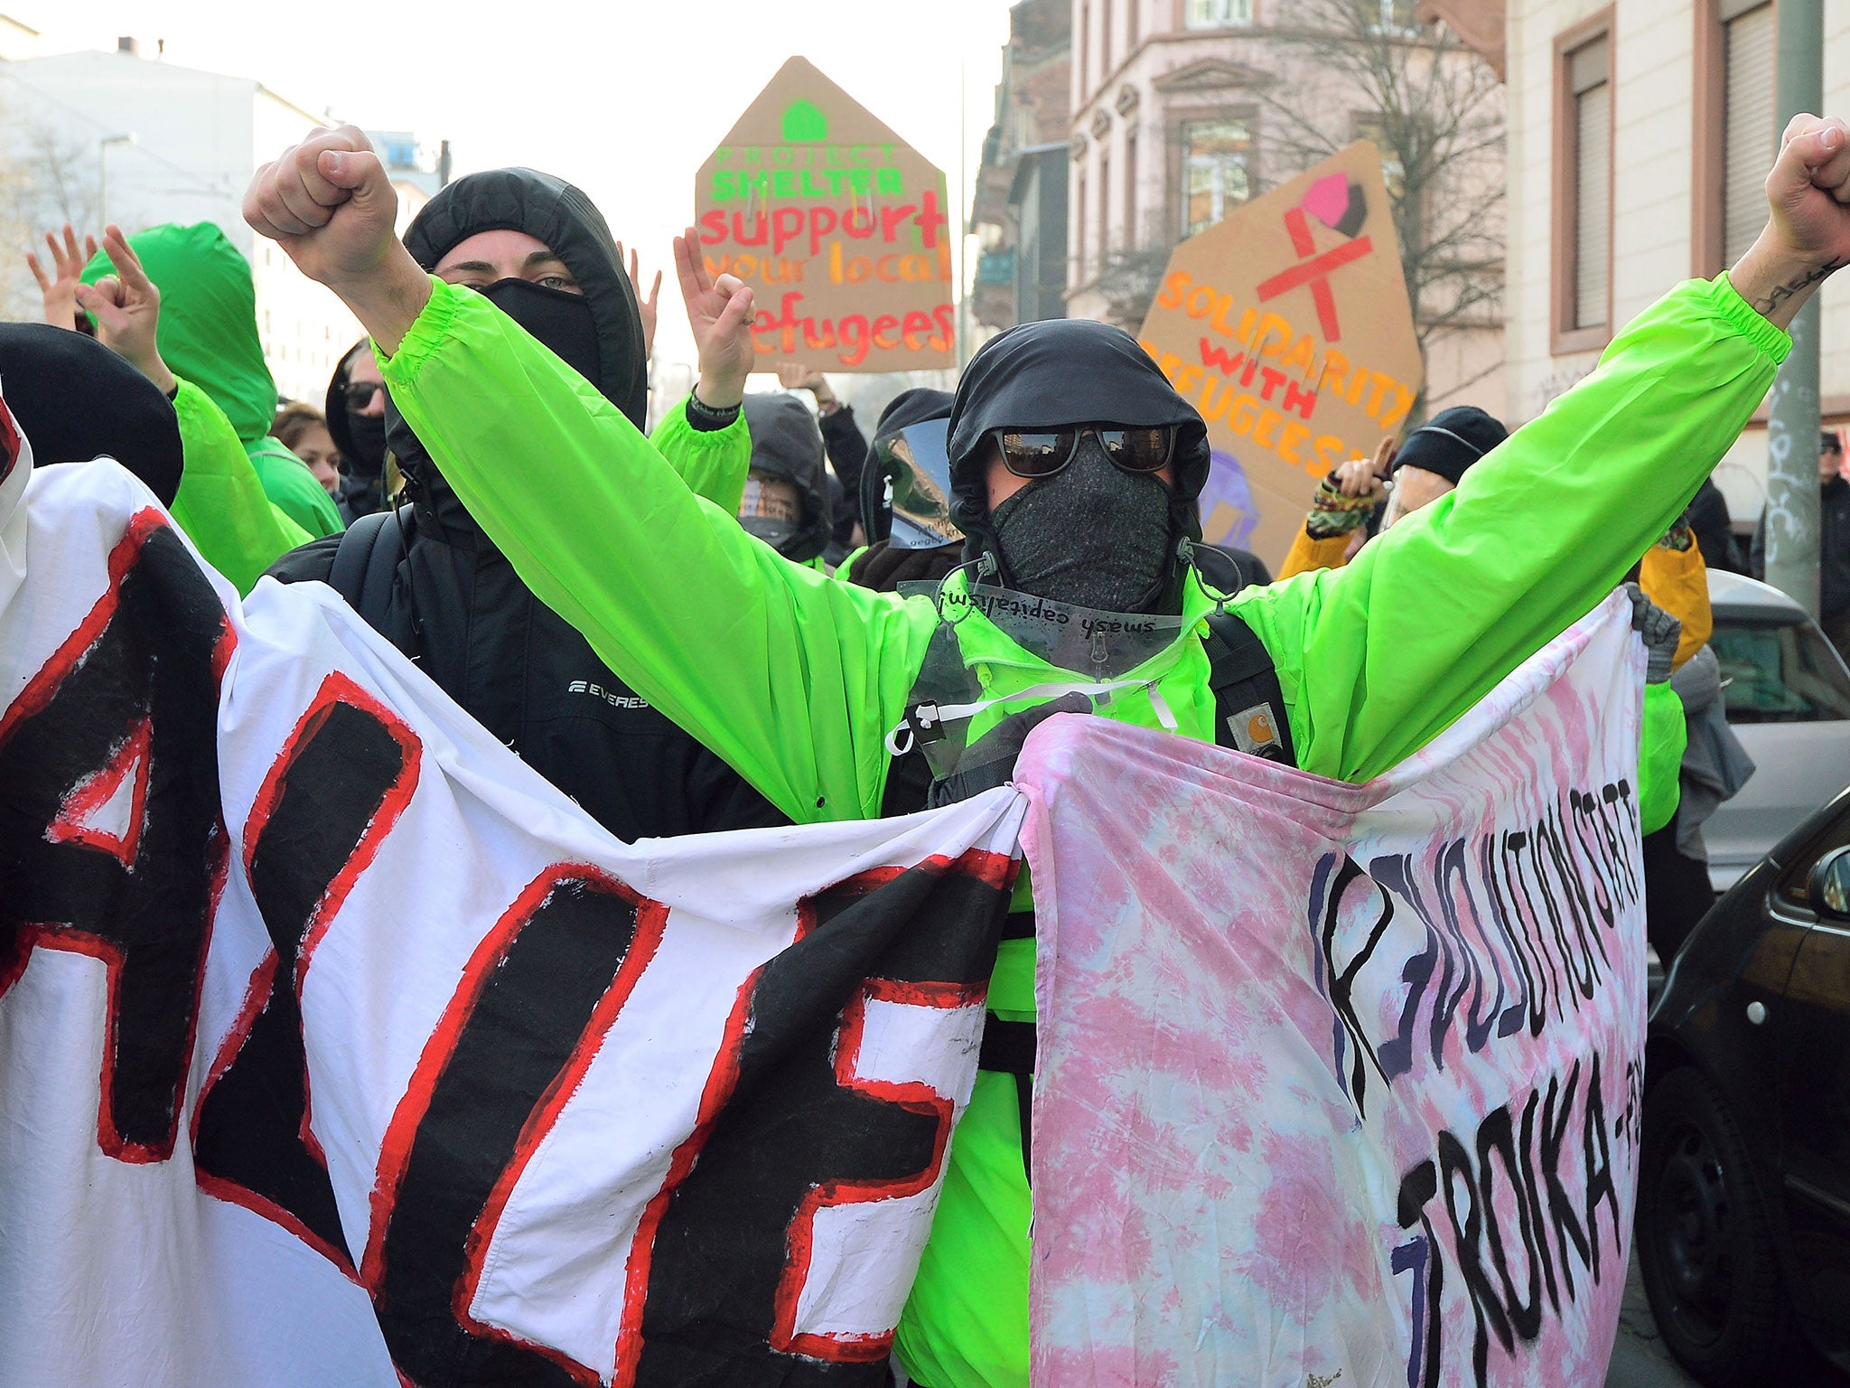
[[[1138,341],[1208,422],[1204,537],[1276,568],[1317,479],[1399,433],[1424,379],[1375,146],[1177,246]]]

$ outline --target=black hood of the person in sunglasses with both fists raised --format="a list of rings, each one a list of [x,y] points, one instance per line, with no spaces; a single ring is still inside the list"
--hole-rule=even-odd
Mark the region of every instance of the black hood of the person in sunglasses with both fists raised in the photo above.
[[[997,333],[971,357],[951,403],[951,520],[964,531],[964,563],[992,555],[995,577],[1014,587],[990,524],[982,440],[1008,426],[1051,429],[1067,424],[1173,424],[1175,487],[1169,527],[1175,540],[1201,539],[1197,500],[1208,483],[1208,426],[1138,341],[1090,318],[1025,322]],[[1167,587],[1180,577],[1177,568]],[[1151,609],[1154,611],[1154,609]]]

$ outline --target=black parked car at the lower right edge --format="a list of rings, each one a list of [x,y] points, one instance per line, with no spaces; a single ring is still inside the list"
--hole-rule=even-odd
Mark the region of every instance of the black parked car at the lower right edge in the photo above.
[[[1846,1381],[1850,790],[1671,966],[1645,1049],[1635,1255],[1665,1345],[1704,1384]]]

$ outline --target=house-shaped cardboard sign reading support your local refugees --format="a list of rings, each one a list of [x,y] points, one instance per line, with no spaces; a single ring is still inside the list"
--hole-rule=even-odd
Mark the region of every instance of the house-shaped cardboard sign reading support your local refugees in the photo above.
[[[803,57],[701,165],[712,276],[758,294],[758,357],[831,372],[953,366],[944,174]]]

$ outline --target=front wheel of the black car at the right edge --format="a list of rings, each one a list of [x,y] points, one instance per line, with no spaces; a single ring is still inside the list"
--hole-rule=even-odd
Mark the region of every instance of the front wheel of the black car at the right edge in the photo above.
[[[1645,1096],[1639,1271],[1665,1347],[1709,1388],[1769,1382],[1793,1340],[1748,1160],[1696,1070],[1674,1070]]]

